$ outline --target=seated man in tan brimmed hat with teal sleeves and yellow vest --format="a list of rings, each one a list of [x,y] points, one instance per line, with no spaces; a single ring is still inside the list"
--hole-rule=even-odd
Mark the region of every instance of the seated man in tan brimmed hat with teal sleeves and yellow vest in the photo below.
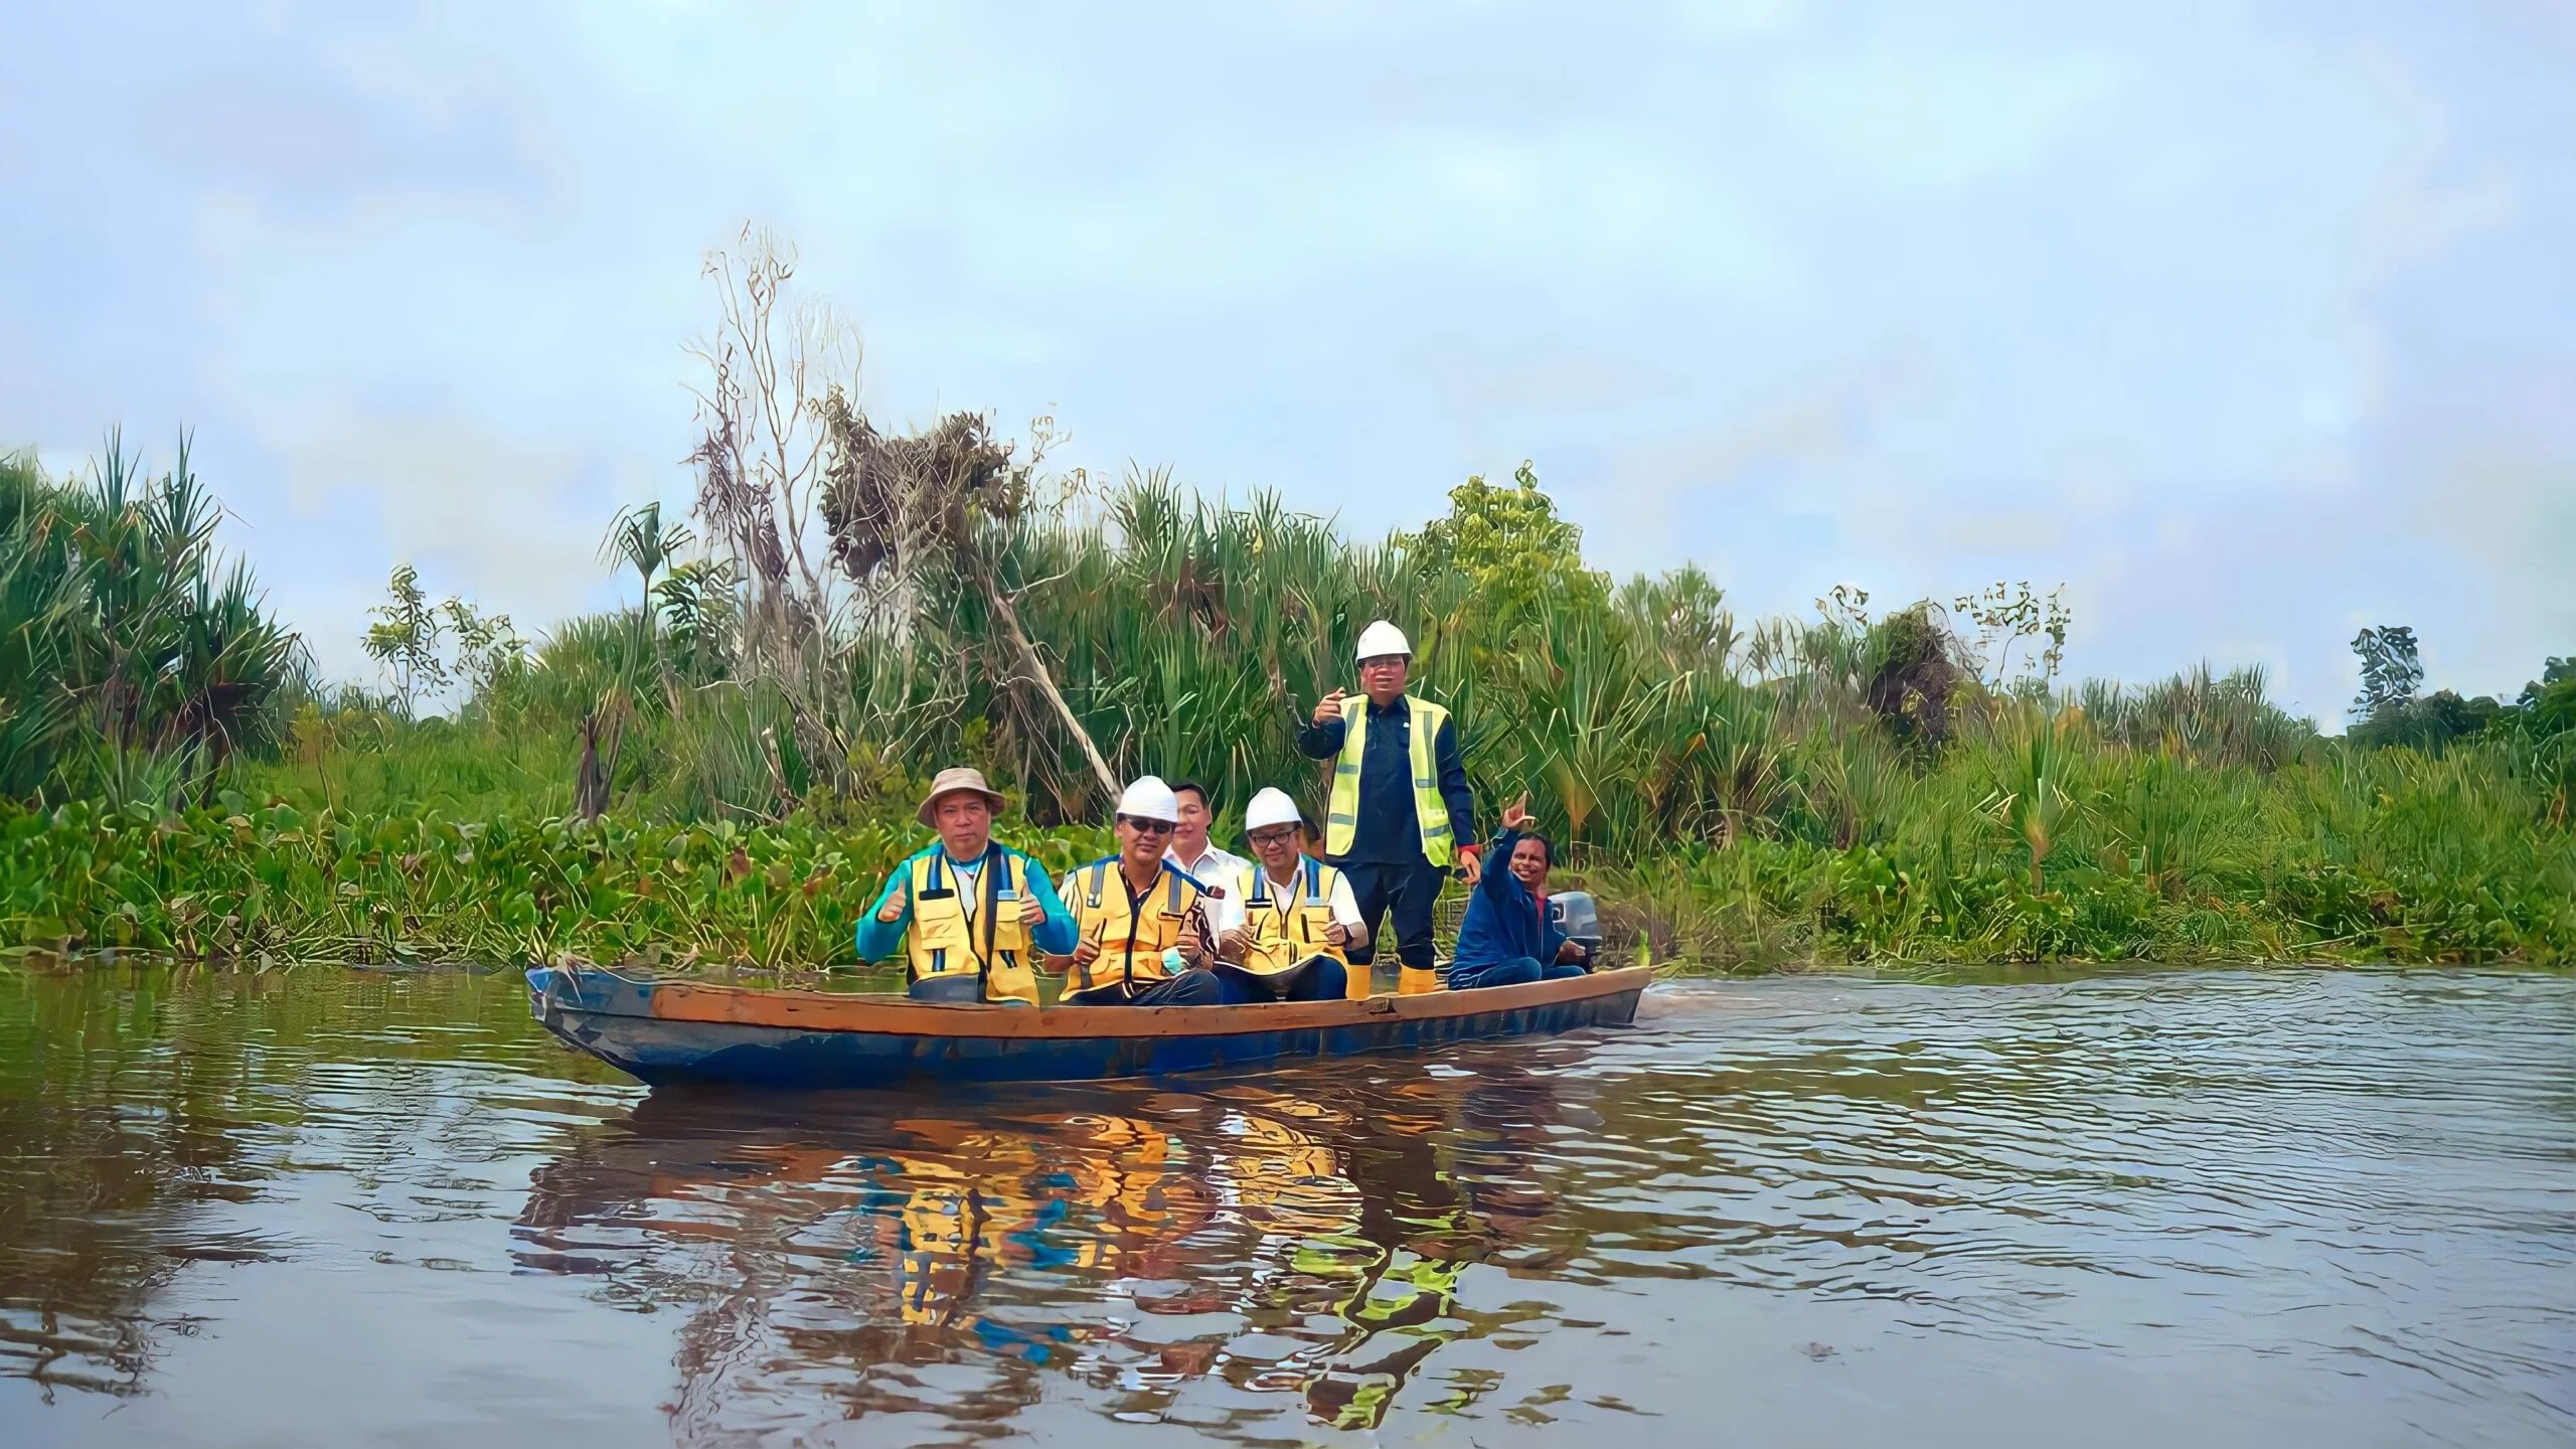
[[[1038,954],[1074,946],[1074,918],[1046,869],[992,838],[997,810],[1002,797],[984,771],[940,771],[920,810],[940,838],[894,866],[858,923],[863,962],[884,962],[909,938],[912,1000],[1038,1006]]]

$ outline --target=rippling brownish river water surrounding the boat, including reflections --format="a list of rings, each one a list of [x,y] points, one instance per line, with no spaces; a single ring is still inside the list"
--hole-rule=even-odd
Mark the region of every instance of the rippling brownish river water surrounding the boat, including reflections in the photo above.
[[[2576,980],[1667,985],[644,1093],[507,975],[0,969],[0,1444],[2566,1444]]]

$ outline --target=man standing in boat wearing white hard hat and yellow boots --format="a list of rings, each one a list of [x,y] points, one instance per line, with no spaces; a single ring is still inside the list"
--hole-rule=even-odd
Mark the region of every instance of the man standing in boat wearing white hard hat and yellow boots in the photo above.
[[[1368,938],[1394,915],[1404,990],[1432,990],[1432,902],[1455,859],[1479,877],[1476,797],[1448,709],[1404,694],[1414,647],[1378,619],[1360,632],[1360,696],[1332,691],[1298,730],[1298,750],[1334,761],[1324,859],[1350,879]],[[1368,967],[1373,946],[1352,954]]]

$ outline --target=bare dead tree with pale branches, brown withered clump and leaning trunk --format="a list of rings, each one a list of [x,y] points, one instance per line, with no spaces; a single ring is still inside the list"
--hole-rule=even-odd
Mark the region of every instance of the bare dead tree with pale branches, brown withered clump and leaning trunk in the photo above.
[[[1030,500],[1051,436],[1043,420],[1018,467],[1012,443],[976,413],[917,436],[884,433],[853,402],[858,335],[793,297],[793,250],[744,227],[732,250],[708,253],[706,278],[719,309],[714,333],[690,348],[706,366],[696,516],[739,590],[742,678],[775,688],[799,753],[842,771],[850,740],[866,735],[886,763],[951,719],[971,678],[1025,681],[1115,794],[997,562]],[[925,668],[984,650],[953,616],[961,590],[997,624],[1002,657],[966,673]],[[858,650],[889,655],[894,670]],[[1005,719],[1018,714],[1005,704]]]

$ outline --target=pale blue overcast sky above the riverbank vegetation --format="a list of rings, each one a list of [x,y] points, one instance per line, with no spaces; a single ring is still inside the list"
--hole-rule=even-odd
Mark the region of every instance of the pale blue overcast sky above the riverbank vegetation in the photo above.
[[[2576,5],[23,5],[0,446],[180,425],[327,670],[685,500],[742,222],[866,400],[1352,534],[1533,459],[1749,614],[2063,583],[2336,727],[2576,652]]]

